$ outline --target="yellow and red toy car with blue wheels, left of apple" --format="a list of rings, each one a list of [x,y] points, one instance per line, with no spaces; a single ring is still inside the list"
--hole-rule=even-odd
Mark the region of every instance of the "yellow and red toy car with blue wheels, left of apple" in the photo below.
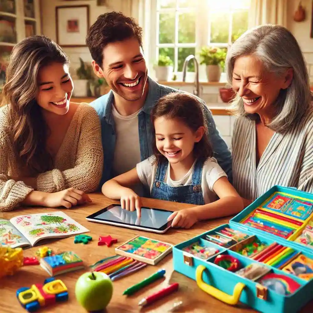
[[[40,307],[66,301],[69,298],[63,281],[55,280],[53,277],[45,280],[44,284],[34,284],[30,288],[19,288],[16,291],[16,296],[28,312],[35,312]]]

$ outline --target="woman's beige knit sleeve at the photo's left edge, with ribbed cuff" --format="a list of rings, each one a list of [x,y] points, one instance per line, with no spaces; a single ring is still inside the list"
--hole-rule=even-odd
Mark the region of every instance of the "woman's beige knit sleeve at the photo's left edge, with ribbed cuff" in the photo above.
[[[1,119],[0,119],[1,122]],[[2,125],[3,126],[3,125]],[[0,211],[13,210],[27,195],[33,191],[24,182],[8,179],[8,159],[10,156],[10,141],[8,135],[0,131]]]

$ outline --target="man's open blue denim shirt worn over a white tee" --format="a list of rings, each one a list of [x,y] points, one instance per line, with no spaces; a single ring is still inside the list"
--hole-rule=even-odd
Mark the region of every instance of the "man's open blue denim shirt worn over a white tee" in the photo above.
[[[142,109],[138,113],[138,130],[139,130],[139,143],[140,143],[140,154],[141,161],[145,160],[153,154],[152,152],[152,129],[150,122],[150,112],[155,103],[164,95],[167,95],[176,89],[159,85],[156,81],[148,77],[149,90],[146,101]],[[112,168],[113,168],[113,157],[115,151],[115,126],[114,119],[111,113],[111,108],[113,104],[114,95],[112,90],[106,95],[91,102],[91,106],[95,108],[98,113],[101,122],[101,135],[102,135],[102,146],[104,153],[103,160],[103,172],[100,181],[100,187],[107,180],[112,178]],[[198,98],[201,102],[203,100]],[[207,106],[205,105],[207,109]],[[226,142],[221,137],[220,133],[216,129],[213,116],[210,110],[205,111],[207,121],[208,121],[208,131],[209,137],[213,145],[214,157],[217,159],[218,164],[223,168],[228,176],[228,180],[232,182],[232,159],[231,153],[228,149]],[[134,165],[135,166],[135,165]]]

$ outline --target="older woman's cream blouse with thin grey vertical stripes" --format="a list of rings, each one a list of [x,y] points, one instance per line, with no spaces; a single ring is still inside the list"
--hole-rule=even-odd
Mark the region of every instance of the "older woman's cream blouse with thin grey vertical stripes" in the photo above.
[[[255,121],[236,119],[232,137],[233,186],[255,200],[274,185],[313,192],[313,110],[299,125],[274,133],[256,166]]]

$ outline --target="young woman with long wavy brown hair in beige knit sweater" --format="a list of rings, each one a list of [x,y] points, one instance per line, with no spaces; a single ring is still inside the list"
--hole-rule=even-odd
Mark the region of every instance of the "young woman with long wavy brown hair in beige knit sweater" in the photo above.
[[[89,202],[100,182],[100,121],[87,104],[69,102],[69,59],[45,36],[12,51],[0,109],[0,211]]]

